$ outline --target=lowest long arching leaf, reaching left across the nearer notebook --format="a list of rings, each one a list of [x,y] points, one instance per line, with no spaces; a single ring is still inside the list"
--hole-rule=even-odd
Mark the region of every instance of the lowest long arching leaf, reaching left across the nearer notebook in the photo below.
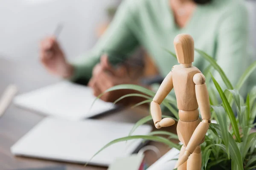
[[[138,136],[126,136],[126,137],[122,137],[119,139],[115,139],[111,142],[109,142],[108,144],[106,144],[104,147],[102,147],[98,152],[96,152],[91,159],[85,164],[85,166],[90,163],[90,161],[96,156],[98,155],[102,150],[106,149],[107,147],[111,146],[112,144],[118,143],[118,142],[124,142],[124,141],[128,141],[128,140],[133,140],[133,139],[145,139],[145,140],[150,140],[150,141],[155,141],[155,142],[161,142],[163,144],[168,145],[169,147],[175,147],[176,149],[180,149],[178,144],[174,144],[173,142],[170,142],[169,139],[160,137],[160,136],[144,136],[144,135],[138,135]]]

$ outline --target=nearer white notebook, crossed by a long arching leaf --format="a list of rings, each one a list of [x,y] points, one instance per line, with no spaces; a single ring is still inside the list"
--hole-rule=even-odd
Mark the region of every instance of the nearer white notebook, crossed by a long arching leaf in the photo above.
[[[93,119],[45,118],[14,144],[11,152],[18,156],[85,164],[108,142],[128,136],[133,126]],[[150,125],[142,125],[134,135],[146,135],[150,131]],[[95,156],[90,164],[108,166],[116,158],[133,153],[141,142],[142,139],[136,139],[113,144]]]

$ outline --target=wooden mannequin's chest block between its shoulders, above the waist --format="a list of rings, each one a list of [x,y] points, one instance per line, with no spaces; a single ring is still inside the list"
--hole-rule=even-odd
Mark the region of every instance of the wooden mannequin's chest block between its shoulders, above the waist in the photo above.
[[[195,83],[193,82],[193,77],[197,73],[201,73],[201,71],[196,67],[184,68],[181,65],[175,65],[172,69],[177,107],[180,110],[192,111],[198,108]]]

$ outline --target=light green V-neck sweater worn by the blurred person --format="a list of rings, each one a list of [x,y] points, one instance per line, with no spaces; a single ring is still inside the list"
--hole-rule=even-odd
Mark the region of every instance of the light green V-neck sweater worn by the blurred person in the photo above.
[[[164,48],[175,52],[175,36],[186,33],[194,38],[195,48],[212,56],[235,85],[250,63],[248,32],[247,9],[240,0],[198,5],[184,28],[175,24],[169,0],[125,0],[95,47],[76,60],[72,79],[90,79],[104,52],[114,63],[125,60],[139,46],[145,48],[165,77],[177,59]],[[209,63],[195,52],[193,65],[203,71]],[[225,88],[216,72],[214,76]]]

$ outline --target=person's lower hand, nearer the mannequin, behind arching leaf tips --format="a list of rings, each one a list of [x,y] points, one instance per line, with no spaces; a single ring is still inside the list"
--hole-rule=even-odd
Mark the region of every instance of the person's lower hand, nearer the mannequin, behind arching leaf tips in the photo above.
[[[125,67],[113,68],[108,62],[106,55],[101,57],[101,62],[93,68],[93,76],[90,79],[89,86],[93,88],[93,95],[99,96],[105,92],[108,88],[120,84],[136,84],[128,76]],[[116,90],[105,93],[100,99],[106,102],[114,102],[119,97],[131,93],[131,90]],[[120,102],[124,102],[121,100]]]

